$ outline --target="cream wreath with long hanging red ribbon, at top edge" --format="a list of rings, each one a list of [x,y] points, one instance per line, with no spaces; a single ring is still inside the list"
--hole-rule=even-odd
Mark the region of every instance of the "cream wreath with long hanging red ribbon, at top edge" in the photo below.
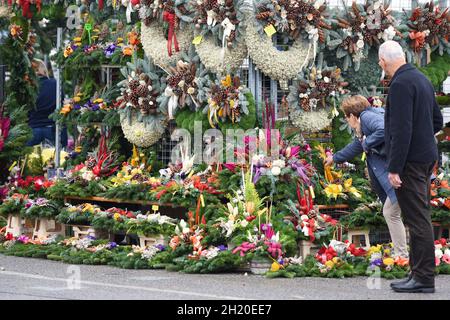
[[[188,0],[144,0],[139,9],[142,47],[155,64],[168,66],[180,59],[192,40]]]

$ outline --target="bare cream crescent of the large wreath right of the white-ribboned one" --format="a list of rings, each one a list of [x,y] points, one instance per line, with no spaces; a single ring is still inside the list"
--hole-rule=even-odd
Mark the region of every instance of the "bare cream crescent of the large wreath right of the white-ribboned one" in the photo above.
[[[297,39],[287,51],[278,50],[272,38],[261,36],[256,21],[250,18],[247,23],[246,44],[249,56],[255,65],[274,80],[295,78],[312,54],[303,39]]]

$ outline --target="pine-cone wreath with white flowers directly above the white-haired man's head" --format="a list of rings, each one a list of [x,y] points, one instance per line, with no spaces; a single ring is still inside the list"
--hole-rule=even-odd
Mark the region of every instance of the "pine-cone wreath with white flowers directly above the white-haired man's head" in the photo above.
[[[354,65],[359,70],[361,60],[367,57],[370,47],[392,40],[401,33],[394,27],[389,4],[367,1],[365,5],[353,2],[345,18],[337,18],[338,31],[330,31],[328,48],[336,50],[336,57],[344,59],[343,69]]]

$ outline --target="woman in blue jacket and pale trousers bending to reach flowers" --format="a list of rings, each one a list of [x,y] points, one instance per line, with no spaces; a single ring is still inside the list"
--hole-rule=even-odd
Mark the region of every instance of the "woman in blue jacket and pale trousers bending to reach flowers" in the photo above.
[[[383,216],[394,244],[395,260],[407,263],[406,230],[395,190],[388,180],[384,152],[384,109],[371,106],[369,101],[361,95],[345,98],[341,109],[349,126],[355,131],[356,137],[342,150],[334,155],[330,154],[325,164],[351,161],[363,152],[366,153],[370,181],[373,190],[383,203]]]

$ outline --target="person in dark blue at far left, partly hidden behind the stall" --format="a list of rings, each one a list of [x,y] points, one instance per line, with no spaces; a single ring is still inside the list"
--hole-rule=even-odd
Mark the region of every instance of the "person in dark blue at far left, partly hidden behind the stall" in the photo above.
[[[49,116],[56,109],[56,80],[49,77],[44,61],[34,59],[32,65],[39,78],[39,91],[35,108],[28,113],[28,125],[33,131],[33,138],[27,145],[35,146],[45,141],[54,145],[56,126]],[[61,146],[67,146],[66,129],[61,130]]]

